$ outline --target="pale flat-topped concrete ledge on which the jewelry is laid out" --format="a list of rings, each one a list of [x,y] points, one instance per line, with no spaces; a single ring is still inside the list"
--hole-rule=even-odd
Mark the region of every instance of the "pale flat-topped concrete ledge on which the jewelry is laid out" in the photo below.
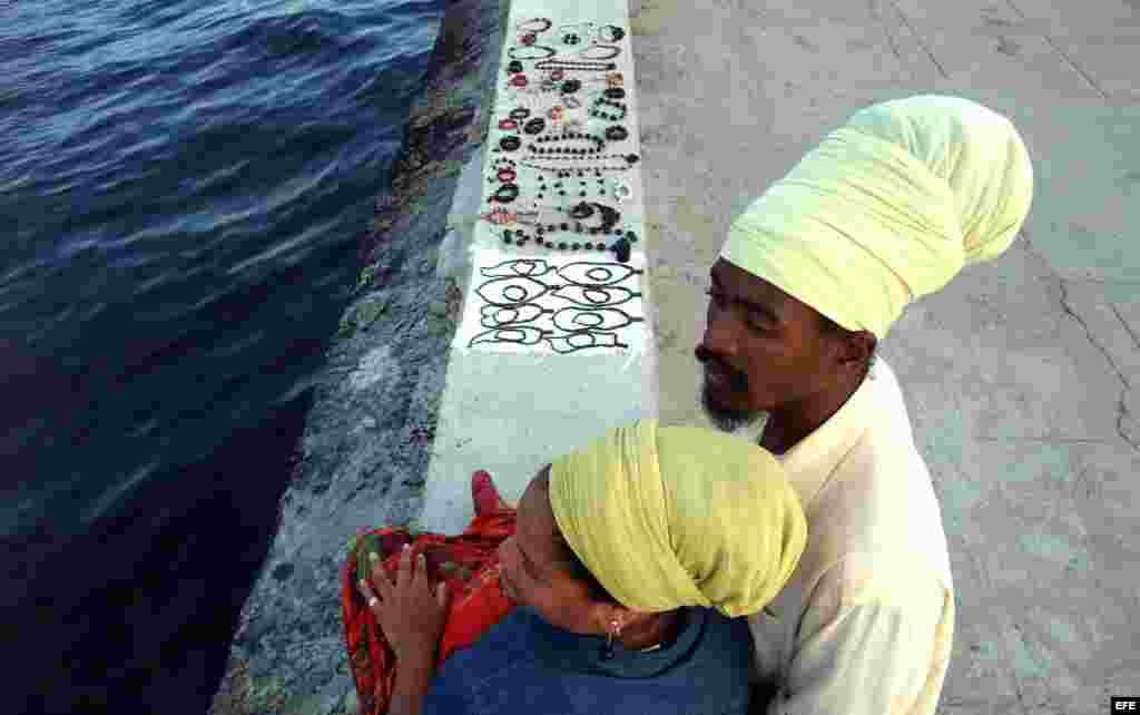
[[[548,31],[538,33],[539,39],[535,46],[556,47],[557,58],[567,58],[578,51],[577,48],[562,44],[562,36],[557,34],[561,25],[594,23],[622,29],[625,36],[613,43],[621,51],[611,62],[617,65],[616,71],[622,74],[626,96],[621,101],[626,104],[627,111],[621,124],[629,136],[626,140],[610,143],[604,152],[621,155],[641,153],[632,32],[625,0],[579,2],[557,11],[543,2],[515,0],[505,30],[487,141],[480,153],[481,161],[477,162],[472,157],[463,169],[451,216],[448,218],[450,231],[445,238],[445,250],[440,253],[438,266],[440,275],[454,277],[458,282],[464,293],[464,311],[449,354],[447,382],[427,472],[424,511],[417,520],[421,528],[432,531],[457,533],[470,521],[470,480],[475,469],[491,472],[504,497],[514,499],[522,494],[535,472],[553,457],[581,446],[611,426],[657,414],[656,340],[653,312],[650,308],[652,301],[646,294],[649,281],[644,273],[645,242],[635,244],[629,262],[622,265],[614,262],[613,253],[573,253],[536,249],[532,245],[504,245],[503,228],[480,218],[494,205],[488,198],[498,185],[488,179],[495,176],[491,169],[495,160],[510,157],[521,162],[528,159],[526,145],[531,139],[522,132],[499,130],[498,121],[507,119],[511,109],[520,103],[538,101],[530,97],[514,96],[506,73],[511,60],[508,51],[518,44],[516,38],[523,34],[516,27],[538,17],[549,18],[552,26]],[[540,25],[542,23],[531,23],[531,26]],[[584,39],[581,47],[589,47],[589,40]],[[545,74],[535,68],[540,63],[527,60],[522,64],[528,80],[531,84],[537,84]],[[565,74],[568,79],[585,81],[604,78],[603,72],[568,71]],[[587,84],[580,90],[579,96],[584,95],[583,104],[586,108],[588,98],[601,96],[600,90],[604,88],[604,83]],[[536,111],[530,119],[543,115],[540,107],[545,105],[535,106]],[[587,132],[604,131],[606,123],[591,119],[585,111],[576,113],[568,109],[564,116],[569,120],[575,114],[580,116]],[[496,152],[499,139],[506,135],[520,136],[522,149],[513,153]],[[529,155],[529,159],[535,161],[534,155]],[[589,162],[581,163],[586,168],[591,165]],[[619,208],[620,226],[644,237],[640,164],[620,173],[629,188],[628,197]],[[529,201],[537,196],[538,176],[537,171],[519,168],[515,181],[520,186],[520,196],[504,205],[507,211],[527,208]],[[595,180],[594,177],[591,179]],[[554,179],[549,181],[553,182]],[[606,198],[608,205],[617,205],[613,196]],[[547,196],[544,203],[555,202]],[[570,200],[562,203],[570,205]],[[575,238],[565,238],[572,239]],[[587,239],[588,236],[581,238]],[[511,270],[510,261],[520,259],[536,261],[519,266],[537,267],[536,270],[542,271],[542,275],[519,276],[516,279],[505,277]],[[583,271],[589,270],[589,267],[576,267],[576,263],[609,263],[610,268],[603,268],[603,271],[614,274],[625,273],[625,267],[636,270],[634,275],[613,283],[609,283],[609,278],[600,279],[606,285],[620,286],[610,298],[622,302],[613,307],[634,317],[636,323],[618,330],[595,331],[595,335],[603,342],[609,341],[612,335],[626,344],[626,348],[588,348],[569,355],[556,351],[559,347],[569,347],[567,338],[570,332],[560,330],[567,319],[559,319],[575,314],[575,295],[569,294],[591,285],[591,279],[583,277]],[[583,281],[581,286],[565,285],[567,276],[571,274]],[[564,287],[557,289],[559,285]],[[507,290],[542,294],[532,296],[527,293],[519,301],[504,298],[503,294],[488,296],[488,292],[500,291],[504,286],[513,286]],[[637,295],[625,301],[628,298],[625,293],[627,290]],[[577,298],[580,299],[581,294],[578,293]],[[503,306],[496,306],[496,300],[502,301],[503,306],[510,304],[499,311],[496,309]],[[531,326],[549,331],[547,338],[536,344],[523,347],[494,341],[495,330],[499,325],[497,320],[500,319],[497,316],[511,314],[520,317],[518,311],[527,310],[528,306],[548,311],[563,308],[568,310],[553,318],[546,315],[534,323],[506,326],[512,331],[527,331]],[[610,315],[617,316],[616,312]],[[492,333],[492,341],[480,342],[488,339],[488,332]]]

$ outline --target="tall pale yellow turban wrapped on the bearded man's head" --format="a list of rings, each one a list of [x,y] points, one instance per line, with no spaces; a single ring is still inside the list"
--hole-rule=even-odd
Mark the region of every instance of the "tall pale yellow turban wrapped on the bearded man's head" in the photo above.
[[[736,218],[720,257],[882,339],[964,263],[1010,246],[1033,166],[1013,124],[958,97],[856,113]]]

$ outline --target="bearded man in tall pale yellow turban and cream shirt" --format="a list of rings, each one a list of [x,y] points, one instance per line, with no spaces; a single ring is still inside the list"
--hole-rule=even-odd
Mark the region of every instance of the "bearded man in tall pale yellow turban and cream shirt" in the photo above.
[[[750,619],[768,715],[935,712],[946,537],[902,392],[872,361],[907,303],[1009,247],[1032,192],[1007,119],[911,97],[856,113],[730,229],[697,348],[702,403],[724,430],[767,413],[760,445],[808,519],[791,580]]]

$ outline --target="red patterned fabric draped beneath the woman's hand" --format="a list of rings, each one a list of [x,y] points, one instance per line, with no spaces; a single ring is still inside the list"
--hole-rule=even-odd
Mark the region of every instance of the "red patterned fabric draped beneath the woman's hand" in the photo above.
[[[477,480],[480,476],[477,473]],[[486,481],[489,484],[489,476]],[[494,503],[488,502],[490,497],[483,484],[477,481],[472,486],[477,509]],[[427,578],[432,586],[440,580],[447,583],[448,612],[437,660],[439,665],[455,651],[474,643],[514,609],[514,603],[499,586],[497,553],[503,539],[514,534],[514,521],[513,511],[484,507],[483,513],[477,515],[461,536],[416,536],[407,529],[390,528],[358,535],[342,568],[341,619],[361,715],[388,713],[398,665],[375,615],[357,587],[357,571],[361,570],[361,563],[366,563],[367,553],[378,552],[384,571],[392,577],[398,570],[400,550],[405,544],[412,544],[413,558],[420,553],[426,555]]]

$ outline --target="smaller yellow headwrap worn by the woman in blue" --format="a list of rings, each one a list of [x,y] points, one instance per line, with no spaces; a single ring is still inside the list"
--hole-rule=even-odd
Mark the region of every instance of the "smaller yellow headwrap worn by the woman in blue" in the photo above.
[[[755,614],[807,541],[799,499],[771,453],[656,420],[554,461],[549,494],[570,549],[610,595],[645,612]]]

